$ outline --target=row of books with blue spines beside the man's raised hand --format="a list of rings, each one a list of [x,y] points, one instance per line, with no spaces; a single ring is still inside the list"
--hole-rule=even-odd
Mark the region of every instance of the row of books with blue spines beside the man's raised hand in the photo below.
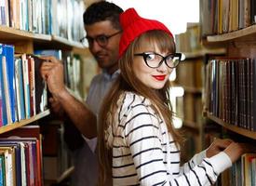
[[[0,45],[0,126],[28,119],[47,109],[47,84],[40,74],[42,60],[14,54]]]

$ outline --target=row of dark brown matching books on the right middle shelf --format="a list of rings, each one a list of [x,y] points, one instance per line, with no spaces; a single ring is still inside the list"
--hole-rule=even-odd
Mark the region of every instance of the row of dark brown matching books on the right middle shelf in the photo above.
[[[247,58],[209,60],[206,109],[224,122],[256,131],[256,64]]]

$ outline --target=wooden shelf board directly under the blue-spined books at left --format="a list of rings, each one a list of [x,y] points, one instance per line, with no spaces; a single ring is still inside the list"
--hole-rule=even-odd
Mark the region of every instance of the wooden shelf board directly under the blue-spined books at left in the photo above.
[[[36,115],[34,115],[33,117],[29,118],[29,119],[24,119],[21,120],[20,122],[15,122],[14,124],[8,124],[7,126],[1,126],[0,127],[0,134],[3,134],[7,131],[13,130],[15,128],[18,128],[20,126],[26,126],[34,121],[37,121],[45,116],[47,116],[49,114],[49,110],[44,111],[42,113],[38,113]]]

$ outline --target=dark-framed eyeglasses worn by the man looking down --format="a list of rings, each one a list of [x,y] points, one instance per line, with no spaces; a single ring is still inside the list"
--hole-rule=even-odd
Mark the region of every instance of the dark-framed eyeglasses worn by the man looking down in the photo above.
[[[98,43],[99,46],[104,47],[108,45],[108,40],[115,36],[118,33],[122,33],[122,31],[118,31],[117,33],[113,33],[111,35],[97,35],[95,38],[89,37],[89,36],[85,36],[82,39],[80,39],[80,42],[86,46],[86,40],[88,40],[88,46],[92,46],[93,45],[93,41],[96,41]]]

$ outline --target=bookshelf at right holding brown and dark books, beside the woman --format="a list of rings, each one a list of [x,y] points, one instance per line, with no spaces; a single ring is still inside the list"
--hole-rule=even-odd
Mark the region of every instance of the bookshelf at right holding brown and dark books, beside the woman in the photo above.
[[[211,125],[221,128],[222,138],[253,146],[256,141],[253,120],[256,99],[256,4],[253,0],[215,3],[212,0],[200,1],[202,37],[205,38],[205,46],[225,46],[226,56],[212,56],[206,61],[205,116]],[[208,98],[208,93],[213,96]],[[249,153],[243,154],[240,160],[222,173],[218,185],[256,184],[251,177],[255,175],[251,167],[255,167],[253,159],[256,152],[250,148]]]

